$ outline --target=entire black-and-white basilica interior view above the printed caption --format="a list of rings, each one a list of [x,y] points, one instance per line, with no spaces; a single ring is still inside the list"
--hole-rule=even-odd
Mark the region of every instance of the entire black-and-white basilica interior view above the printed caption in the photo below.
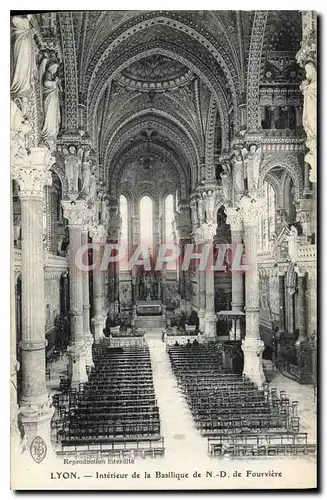
[[[316,14],[10,22],[15,459],[313,462]]]

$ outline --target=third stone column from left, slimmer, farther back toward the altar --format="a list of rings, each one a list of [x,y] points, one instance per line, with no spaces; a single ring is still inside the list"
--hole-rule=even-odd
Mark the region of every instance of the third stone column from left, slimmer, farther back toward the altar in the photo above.
[[[106,270],[101,269],[103,250],[106,238],[106,230],[103,225],[90,226],[90,236],[93,243],[100,246],[99,250],[93,249],[93,311],[92,318],[94,342],[98,343],[104,337],[103,329],[106,321],[106,311],[104,306],[104,276]]]

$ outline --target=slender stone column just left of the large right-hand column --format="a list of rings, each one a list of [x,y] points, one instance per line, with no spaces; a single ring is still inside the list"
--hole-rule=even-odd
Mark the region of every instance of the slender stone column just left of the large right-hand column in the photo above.
[[[243,245],[242,239],[242,218],[239,210],[235,207],[229,207],[226,210],[227,224],[231,229],[232,243],[232,263],[234,261],[235,252],[239,251],[238,246]],[[235,313],[244,312],[244,272],[237,269],[232,269],[232,311]],[[244,335],[242,331],[243,323],[241,320],[236,321],[236,340],[241,340]],[[233,325],[234,327],[234,325]],[[235,331],[232,328],[230,338],[234,339]]]

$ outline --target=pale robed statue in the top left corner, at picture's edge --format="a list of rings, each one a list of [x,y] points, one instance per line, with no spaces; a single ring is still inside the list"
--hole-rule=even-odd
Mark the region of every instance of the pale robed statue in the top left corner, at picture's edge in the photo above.
[[[37,77],[36,56],[33,46],[33,29],[30,26],[31,16],[12,18],[13,37],[13,78],[11,93],[29,96]]]

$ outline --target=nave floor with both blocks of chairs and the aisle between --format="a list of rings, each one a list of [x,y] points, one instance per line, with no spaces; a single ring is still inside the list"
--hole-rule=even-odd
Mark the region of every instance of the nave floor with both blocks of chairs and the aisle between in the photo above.
[[[201,457],[282,460],[315,455],[314,391],[281,374],[263,390],[228,373],[212,345],[169,346],[161,330],[143,346],[94,347],[89,382],[54,395],[58,456],[161,459]],[[58,380],[62,361],[53,363]],[[299,398],[301,396],[301,399]],[[300,404],[299,404],[300,400]]]

